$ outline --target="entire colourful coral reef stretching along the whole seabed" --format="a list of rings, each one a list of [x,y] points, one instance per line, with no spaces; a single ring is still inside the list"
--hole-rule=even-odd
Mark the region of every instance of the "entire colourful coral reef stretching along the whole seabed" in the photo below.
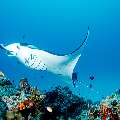
[[[99,103],[68,87],[41,92],[22,78],[19,88],[0,72],[0,120],[120,120],[120,90]]]

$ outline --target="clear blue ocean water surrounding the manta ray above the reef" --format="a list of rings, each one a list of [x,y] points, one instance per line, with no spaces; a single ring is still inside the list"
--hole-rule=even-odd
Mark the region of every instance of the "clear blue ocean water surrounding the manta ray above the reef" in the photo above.
[[[64,54],[81,43],[89,26],[87,46],[75,68],[82,84],[73,91],[99,100],[120,88],[119,3],[118,0],[1,0],[0,44],[27,42],[48,52]],[[21,77],[27,77],[41,89],[58,85],[54,75],[30,70],[2,51],[0,70],[16,85]],[[95,76],[93,81],[90,75]]]

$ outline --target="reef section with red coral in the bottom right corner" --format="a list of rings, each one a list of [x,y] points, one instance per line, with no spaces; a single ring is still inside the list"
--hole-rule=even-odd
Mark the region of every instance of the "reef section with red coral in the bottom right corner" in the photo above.
[[[89,120],[120,120],[120,92],[107,96],[99,105],[93,105],[88,116]]]

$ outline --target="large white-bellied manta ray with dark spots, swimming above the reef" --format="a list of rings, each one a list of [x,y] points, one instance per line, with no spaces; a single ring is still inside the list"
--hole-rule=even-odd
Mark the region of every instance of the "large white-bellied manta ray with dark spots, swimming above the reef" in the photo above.
[[[28,68],[48,71],[72,79],[73,70],[81,56],[81,48],[85,46],[88,36],[89,28],[80,46],[65,55],[52,54],[27,43],[12,43],[6,46],[0,44],[0,49],[4,50],[8,56],[16,57]]]

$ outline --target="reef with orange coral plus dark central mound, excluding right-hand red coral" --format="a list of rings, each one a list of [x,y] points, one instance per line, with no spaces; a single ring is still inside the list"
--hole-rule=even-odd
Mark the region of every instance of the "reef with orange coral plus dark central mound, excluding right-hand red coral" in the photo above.
[[[68,87],[58,86],[43,94],[37,88],[31,87],[26,78],[20,80],[19,88],[16,89],[2,74],[0,90],[0,112],[4,119],[76,119],[88,108],[87,101],[72,94]]]

